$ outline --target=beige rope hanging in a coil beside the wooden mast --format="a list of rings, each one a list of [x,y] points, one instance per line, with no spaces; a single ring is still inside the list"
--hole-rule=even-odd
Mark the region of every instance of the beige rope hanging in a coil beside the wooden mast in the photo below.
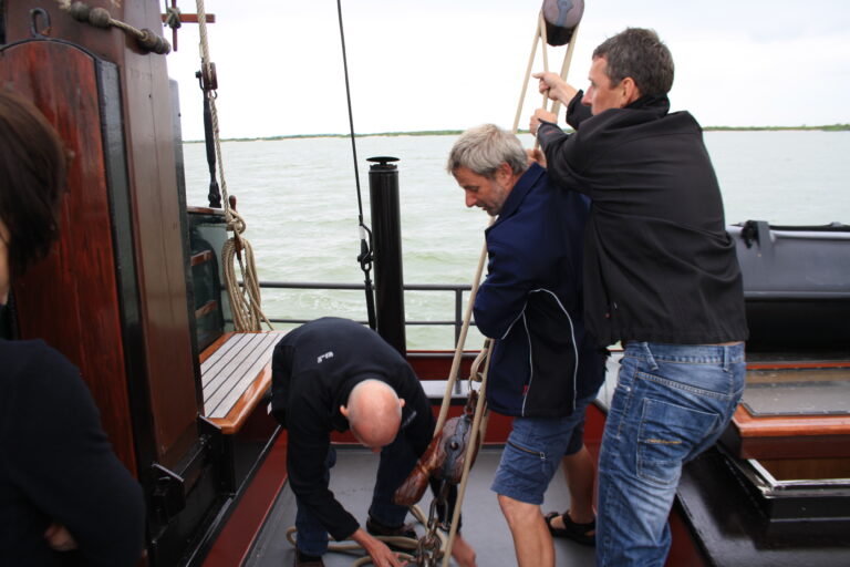
[[[237,332],[259,331],[262,322],[273,329],[271,321],[262,312],[260,307],[260,282],[257,276],[257,267],[253,262],[253,249],[251,244],[242,238],[246,229],[245,219],[234,208],[227,194],[227,181],[225,178],[225,165],[221,159],[221,140],[218,128],[218,112],[216,110],[216,89],[218,81],[215,79],[215,68],[209,60],[209,42],[207,40],[207,14],[204,9],[204,0],[197,0],[198,29],[200,32],[200,68],[201,85],[205,96],[209,102],[209,113],[212,122],[212,136],[216,145],[218,162],[218,176],[221,179],[221,195],[224,197],[225,225],[227,230],[234,233],[221,249],[221,264],[225,274],[225,287],[230,298],[230,311],[234,316],[234,329]],[[245,258],[242,258],[245,252]],[[243,286],[239,285],[234,271],[234,257],[239,262],[239,272]]]

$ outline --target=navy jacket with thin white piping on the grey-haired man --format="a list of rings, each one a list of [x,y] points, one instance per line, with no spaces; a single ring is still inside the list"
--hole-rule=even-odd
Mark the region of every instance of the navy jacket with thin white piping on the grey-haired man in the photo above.
[[[604,355],[587,337],[581,247],[588,199],[549,184],[532,165],[486,230],[487,279],[475,298],[478,329],[496,339],[487,402],[524,417],[572,413],[604,380]]]

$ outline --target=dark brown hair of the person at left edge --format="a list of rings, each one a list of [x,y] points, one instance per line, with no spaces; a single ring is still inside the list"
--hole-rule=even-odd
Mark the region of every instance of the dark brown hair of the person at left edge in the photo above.
[[[58,238],[66,174],[53,126],[31,102],[0,89],[0,221],[12,275],[46,256]]]

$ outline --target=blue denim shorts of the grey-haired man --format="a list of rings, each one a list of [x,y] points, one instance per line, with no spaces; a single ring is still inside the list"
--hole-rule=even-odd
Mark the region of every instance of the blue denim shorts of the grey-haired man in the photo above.
[[[577,453],[583,443],[584,411],[593,395],[576,401],[564,417],[514,417],[501,462],[490,489],[527,504],[542,504],[561,457]]]

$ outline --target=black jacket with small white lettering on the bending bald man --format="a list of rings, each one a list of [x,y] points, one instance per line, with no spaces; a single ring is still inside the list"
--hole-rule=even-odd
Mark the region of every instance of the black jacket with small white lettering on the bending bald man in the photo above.
[[[287,468],[292,492],[335,539],[345,539],[360,524],[324,482],[331,431],[349,429],[340,406],[359,382],[386,382],[405,401],[400,435],[422,455],[434,434],[431,403],[398,351],[348,319],[325,317],[290,331],[274,347],[271,368],[271,409],[289,430]]]

